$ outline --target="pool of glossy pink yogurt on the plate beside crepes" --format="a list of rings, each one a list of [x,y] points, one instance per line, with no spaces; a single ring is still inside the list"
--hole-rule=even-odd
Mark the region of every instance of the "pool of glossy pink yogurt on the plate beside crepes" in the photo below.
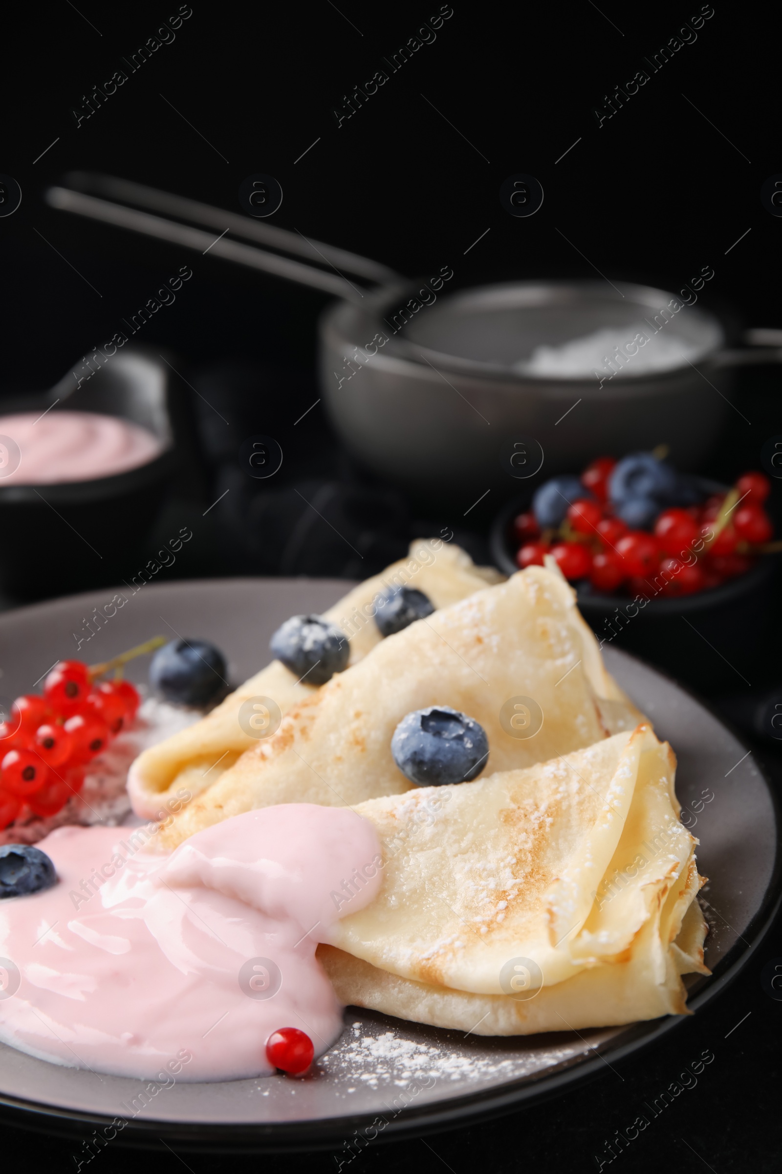
[[[143,842],[73,826],[40,842],[59,883],[0,903],[0,1039],[145,1080],[266,1075],[280,1027],[325,1052],[342,1016],[315,946],[380,889],[373,825],[348,808],[287,803],[171,856],[134,851]]]

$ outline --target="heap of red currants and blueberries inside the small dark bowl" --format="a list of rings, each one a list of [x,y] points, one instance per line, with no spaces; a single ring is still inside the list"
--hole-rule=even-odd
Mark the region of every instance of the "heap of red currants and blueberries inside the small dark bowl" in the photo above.
[[[763,473],[744,473],[726,493],[705,497],[700,485],[651,452],[553,477],[511,522],[516,564],[543,566],[550,554],[566,579],[606,595],[648,595],[658,576],[671,598],[718,587],[780,548]]]

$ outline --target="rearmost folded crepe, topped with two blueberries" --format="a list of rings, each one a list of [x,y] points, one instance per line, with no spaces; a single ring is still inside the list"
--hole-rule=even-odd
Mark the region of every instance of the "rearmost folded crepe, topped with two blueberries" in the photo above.
[[[355,664],[382,640],[374,621],[373,601],[383,587],[415,587],[429,596],[435,608],[441,608],[502,579],[494,567],[475,566],[458,546],[440,539],[417,539],[410,545],[407,559],[393,562],[382,574],[354,587],[325,615],[348,636],[349,663]],[[136,815],[162,818],[161,812],[169,809],[171,799],[178,810],[183,792],[192,797],[212,787],[254,744],[256,740],[239,726],[243,702],[250,697],[271,697],[286,714],[317,691],[315,686],[298,681],[280,661],[272,661],[199,722],[136,758],[128,775],[128,792]]]

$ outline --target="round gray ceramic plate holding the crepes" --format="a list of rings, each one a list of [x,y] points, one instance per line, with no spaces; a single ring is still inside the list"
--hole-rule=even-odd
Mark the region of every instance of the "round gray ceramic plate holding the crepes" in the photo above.
[[[164,574],[165,572],[162,572]],[[225,650],[233,680],[268,659],[268,639],[293,613],[321,612],[346,591],[334,580],[213,580],[147,585],[95,635],[80,659],[116,655],[158,633],[202,636]],[[76,655],[95,609],[114,592],[76,595],[0,616],[0,700],[30,691],[57,657]],[[75,634],[75,635],[74,635]],[[689,1006],[735,976],[757,946],[778,899],[777,812],[752,754],[672,681],[620,652],[607,664],[679,757],[676,789],[701,841],[709,877],[706,960],[714,974],[692,984]],[[147,662],[131,666],[144,679]],[[702,791],[713,799],[702,803]],[[699,803],[699,801],[701,801]],[[346,1031],[306,1080],[270,1077],[226,1084],[176,1084],[144,1098],[141,1081],[62,1068],[0,1045],[0,1104],[29,1126],[103,1134],[141,1145],[164,1139],[198,1148],[345,1148],[376,1136],[426,1132],[501,1113],[582,1079],[676,1026],[668,1017],[631,1027],[516,1039],[464,1037],[348,1008]],[[147,1101],[147,1104],[144,1104]],[[127,1124],[117,1134],[110,1122]]]

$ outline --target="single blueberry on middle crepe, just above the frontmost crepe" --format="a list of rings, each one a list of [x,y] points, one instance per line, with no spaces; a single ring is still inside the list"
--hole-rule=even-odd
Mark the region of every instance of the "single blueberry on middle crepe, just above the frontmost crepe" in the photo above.
[[[485,730],[474,717],[450,706],[429,706],[408,714],[394,730],[394,762],[419,787],[470,783],[489,755]]]

